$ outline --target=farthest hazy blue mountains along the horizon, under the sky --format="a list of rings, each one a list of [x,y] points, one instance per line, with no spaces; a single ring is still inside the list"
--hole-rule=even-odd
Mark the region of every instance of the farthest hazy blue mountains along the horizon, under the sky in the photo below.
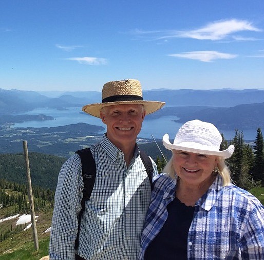
[[[44,92],[45,93],[45,92]],[[211,106],[234,107],[241,104],[264,102],[264,90],[147,90],[145,100],[164,101],[166,106]],[[89,103],[101,102],[101,92],[72,91],[58,97],[48,97],[35,91],[0,89],[0,113],[28,111],[38,107],[65,108],[81,107]]]

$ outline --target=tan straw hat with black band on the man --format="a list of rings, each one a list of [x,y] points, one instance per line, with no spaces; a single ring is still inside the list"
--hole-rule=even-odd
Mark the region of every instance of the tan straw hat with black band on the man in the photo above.
[[[146,114],[150,114],[164,106],[165,102],[143,101],[140,82],[137,79],[124,79],[107,82],[102,90],[102,103],[86,105],[82,110],[100,118],[103,107],[122,104],[142,104]]]

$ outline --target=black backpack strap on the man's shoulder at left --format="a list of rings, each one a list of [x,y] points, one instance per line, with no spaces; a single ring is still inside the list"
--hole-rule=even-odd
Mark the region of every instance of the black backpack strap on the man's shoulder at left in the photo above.
[[[82,176],[83,176],[83,198],[81,201],[81,211],[78,216],[78,233],[74,245],[74,249],[79,247],[79,235],[80,235],[80,224],[82,219],[82,214],[85,209],[85,201],[88,201],[95,185],[96,181],[96,163],[95,159],[92,157],[92,153],[90,148],[85,148],[82,150],[78,150],[75,153],[78,153],[81,158],[82,163]]]

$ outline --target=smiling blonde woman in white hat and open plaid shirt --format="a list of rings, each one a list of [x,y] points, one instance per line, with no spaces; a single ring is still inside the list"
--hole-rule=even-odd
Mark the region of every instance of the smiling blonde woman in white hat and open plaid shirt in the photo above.
[[[222,137],[206,122],[185,123],[173,157],[158,175],[141,238],[139,259],[264,259],[264,207],[231,184]]]

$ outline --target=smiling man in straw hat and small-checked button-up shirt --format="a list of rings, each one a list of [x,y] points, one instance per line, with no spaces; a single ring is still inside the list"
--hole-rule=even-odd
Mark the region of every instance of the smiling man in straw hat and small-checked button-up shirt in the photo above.
[[[90,147],[96,162],[95,186],[85,202],[80,244],[74,250],[84,187],[80,156],[74,154],[62,166],[55,193],[50,259],[137,259],[151,188],[136,138],[145,115],[164,104],[143,101],[140,82],[127,79],[106,83],[102,103],[83,107],[107,127],[101,142]]]

